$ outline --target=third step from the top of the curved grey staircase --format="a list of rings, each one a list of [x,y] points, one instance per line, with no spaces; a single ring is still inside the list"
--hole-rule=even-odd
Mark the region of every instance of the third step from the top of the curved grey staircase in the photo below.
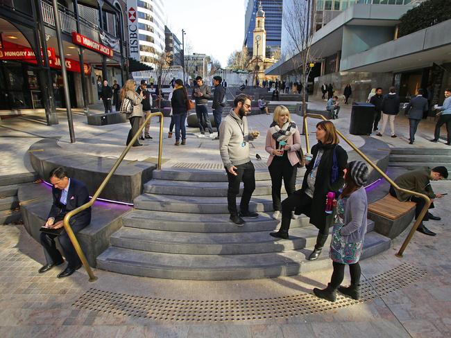
[[[287,195],[282,195],[282,200]],[[237,206],[241,197],[237,197]],[[166,211],[171,213],[228,213],[226,197],[189,197],[173,195],[142,194],[133,201],[135,208]],[[254,212],[273,211],[271,195],[253,196],[249,210]]]

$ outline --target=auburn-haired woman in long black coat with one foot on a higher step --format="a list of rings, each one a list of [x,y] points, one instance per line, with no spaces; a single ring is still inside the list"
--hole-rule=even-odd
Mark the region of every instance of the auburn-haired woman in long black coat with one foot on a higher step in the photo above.
[[[337,192],[344,184],[344,169],[348,163],[346,150],[338,145],[339,136],[330,121],[321,121],[316,125],[318,143],[312,147],[312,161],[305,168],[303,186],[282,202],[282,224],[278,232],[270,233],[275,238],[288,239],[291,223],[291,211],[310,217],[310,223],[318,229],[315,249],[309,260],[316,260],[329,235],[329,224],[326,222],[325,202],[328,192]],[[336,157],[337,176],[332,181],[332,166]]]

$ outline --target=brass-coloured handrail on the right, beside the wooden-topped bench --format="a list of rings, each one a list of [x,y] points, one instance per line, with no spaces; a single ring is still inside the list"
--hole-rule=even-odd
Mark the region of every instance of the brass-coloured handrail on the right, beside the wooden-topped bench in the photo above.
[[[325,118],[321,114],[305,114],[303,123],[304,123],[304,132],[305,132],[305,145],[307,147],[307,152],[309,152],[309,133],[307,130],[307,118],[308,117],[320,118],[320,119],[323,119],[324,121],[327,121],[327,118]],[[377,172],[379,172],[379,174],[382,177],[384,177],[384,179],[386,179],[386,181],[388,181],[389,184],[391,184],[391,186],[393,186],[393,188],[395,188],[398,191],[402,191],[403,193],[409,193],[410,195],[414,195],[416,197],[421,197],[425,200],[425,202],[426,202],[425,206],[423,206],[423,209],[421,209],[420,215],[418,215],[418,217],[416,218],[414,226],[412,226],[412,229],[410,229],[410,232],[407,235],[407,238],[405,239],[405,241],[402,243],[402,246],[399,249],[398,253],[395,254],[398,257],[402,257],[402,253],[404,253],[405,249],[407,248],[407,245],[409,245],[409,242],[410,242],[411,238],[414,236],[416,229],[418,229],[418,226],[420,225],[421,220],[423,220],[423,217],[425,217],[425,215],[427,213],[427,209],[429,209],[429,206],[431,205],[431,199],[427,195],[417,193],[416,191],[400,188],[400,186],[398,186],[398,184],[395,184],[395,182],[390,177],[388,177],[383,170],[381,170],[378,166],[376,166],[376,164],[373,163],[373,161],[371,161],[371,159],[368,159],[368,157],[363,152],[361,152],[361,150],[359,150],[359,148],[357,148],[354,143],[349,141],[346,138],[346,136],[344,136],[339,130],[337,130],[337,134],[339,134],[341,139],[343,139],[346,143],[348,143],[348,145],[350,145],[350,147],[353,150],[355,150],[355,152],[357,152],[357,154],[359,154],[360,157],[366,161],[366,163],[368,163]]]

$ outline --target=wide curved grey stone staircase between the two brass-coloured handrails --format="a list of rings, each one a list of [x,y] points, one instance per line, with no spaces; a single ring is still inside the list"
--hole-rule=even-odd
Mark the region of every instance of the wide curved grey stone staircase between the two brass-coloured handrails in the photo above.
[[[246,219],[245,226],[229,222],[228,183],[221,163],[178,163],[155,170],[144,194],[135,199],[133,211],[122,217],[121,229],[112,234],[111,246],[97,257],[97,267],[194,280],[289,276],[328,267],[327,244],[317,261],[307,260],[317,234],[307,217],[291,222],[289,240],[269,235],[280,222],[271,218],[266,163],[256,161],[255,168],[250,211],[257,211],[259,217]],[[298,170],[297,188],[303,172]],[[373,229],[374,223],[368,221],[363,258],[390,247],[389,238]]]

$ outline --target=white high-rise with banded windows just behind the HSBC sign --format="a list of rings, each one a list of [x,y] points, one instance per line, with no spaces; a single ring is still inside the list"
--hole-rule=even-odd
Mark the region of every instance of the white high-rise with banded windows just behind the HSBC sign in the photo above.
[[[161,53],[166,48],[164,2],[162,0],[137,0],[137,19],[139,60],[153,64],[155,53]]]

